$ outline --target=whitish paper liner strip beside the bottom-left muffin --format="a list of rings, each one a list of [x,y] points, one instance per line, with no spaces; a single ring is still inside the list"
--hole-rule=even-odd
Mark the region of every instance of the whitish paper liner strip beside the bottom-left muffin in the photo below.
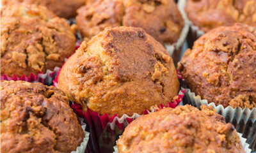
[[[78,118],[78,120],[79,120],[79,122],[82,126],[83,131],[84,131],[84,140],[83,140],[83,142],[81,142],[81,145],[76,148],[76,151],[72,151],[71,153],[84,153],[85,149],[86,149],[86,146],[87,146],[87,143],[88,143],[88,140],[89,140],[90,133],[85,131],[86,124],[83,122],[84,119],[82,119],[80,117],[77,117],[77,118]]]

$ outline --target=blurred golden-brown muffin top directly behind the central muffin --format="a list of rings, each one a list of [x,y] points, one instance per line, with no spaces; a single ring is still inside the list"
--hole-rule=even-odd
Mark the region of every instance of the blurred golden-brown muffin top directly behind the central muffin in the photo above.
[[[184,22],[173,0],[102,0],[77,10],[77,25],[85,39],[105,27],[141,27],[160,43],[175,43]]]

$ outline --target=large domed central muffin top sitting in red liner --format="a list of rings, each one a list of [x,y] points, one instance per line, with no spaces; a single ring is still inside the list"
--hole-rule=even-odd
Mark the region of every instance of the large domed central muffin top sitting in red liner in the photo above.
[[[58,87],[100,115],[142,114],[172,102],[179,80],[164,47],[136,27],[107,27],[65,62]]]

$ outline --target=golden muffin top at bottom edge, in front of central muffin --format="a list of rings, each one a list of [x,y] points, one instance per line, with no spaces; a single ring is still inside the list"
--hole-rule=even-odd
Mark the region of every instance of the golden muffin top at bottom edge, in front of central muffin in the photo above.
[[[185,105],[143,115],[125,128],[118,152],[244,152],[232,124],[211,107]]]

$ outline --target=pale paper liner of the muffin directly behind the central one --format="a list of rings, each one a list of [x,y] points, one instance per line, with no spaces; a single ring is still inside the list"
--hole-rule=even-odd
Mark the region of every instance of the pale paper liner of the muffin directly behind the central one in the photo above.
[[[182,15],[183,21],[184,21],[184,26],[182,28],[180,37],[176,43],[173,43],[173,44],[164,43],[164,47],[166,48],[169,55],[172,56],[175,66],[177,65],[177,62],[179,62],[182,46],[183,46],[184,41],[187,38],[188,31],[189,31],[189,23],[188,23],[188,20],[186,19],[186,13],[184,12],[184,10],[180,9],[179,3],[178,3],[178,8],[179,8],[180,14]]]

